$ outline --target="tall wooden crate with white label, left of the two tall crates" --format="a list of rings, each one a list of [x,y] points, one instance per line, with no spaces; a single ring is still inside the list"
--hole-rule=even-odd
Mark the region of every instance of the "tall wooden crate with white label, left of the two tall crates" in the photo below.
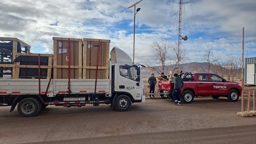
[[[53,37],[53,78],[68,79],[68,39]],[[82,79],[83,40],[70,38],[70,79]]]

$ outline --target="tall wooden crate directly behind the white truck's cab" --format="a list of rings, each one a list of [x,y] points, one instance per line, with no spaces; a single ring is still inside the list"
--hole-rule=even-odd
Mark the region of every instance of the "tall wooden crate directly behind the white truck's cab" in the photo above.
[[[98,79],[108,79],[109,77],[109,44],[108,39],[86,39],[84,38],[84,59],[83,59],[83,79],[95,79],[97,69],[98,46],[99,63]]]

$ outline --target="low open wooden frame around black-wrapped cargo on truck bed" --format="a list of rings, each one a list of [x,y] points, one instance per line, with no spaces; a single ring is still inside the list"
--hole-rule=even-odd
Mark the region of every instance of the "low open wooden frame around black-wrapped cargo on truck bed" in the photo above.
[[[38,53],[16,53],[16,58],[19,56],[39,56]],[[50,79],[52,75],[52,65],[53,65],[53,55],[52,54],[40,54],[40,57],[48,57],[48,65],[40,65],[41,71],[47,71],[47,77],[42,77],[42,79]],[[16,59],[15,58],[15,59]],[[15,61],[15,60],[14,60]],[[13,64],[0,64],[0,67],[12,67],[12,78],[19,79],[19,78],[38,78],[38,76],[21,76],[20,72],[26,69],[28,72],[38,71],[38,64],[36,65],[21,65],[20,62],[13,62]]]

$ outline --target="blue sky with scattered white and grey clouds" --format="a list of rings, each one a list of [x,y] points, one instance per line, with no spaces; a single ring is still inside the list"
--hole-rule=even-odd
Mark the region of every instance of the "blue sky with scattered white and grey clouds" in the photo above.
[[[19,38],[36,53],[49,53],[52,37],[111,39],[111,47],[132,56],[133,8],[127,7],[136,1],[0,1],[0,37]],[[177,43],[178,0],[143,0],[137,7],[135,62],[158,65],[151,45],[164,38]],[[255,0],[184,0],[184,62],[202,62],[207,47],[220,59],[240,57],[242,27],[245,56],[256,57],[255,7]]]

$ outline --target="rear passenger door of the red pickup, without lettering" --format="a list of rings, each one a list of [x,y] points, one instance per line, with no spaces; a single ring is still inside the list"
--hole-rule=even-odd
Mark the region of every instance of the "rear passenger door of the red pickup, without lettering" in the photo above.
[[[197,92],[199,96],[212,95],[212,84],[209,80],[209,75],[206,73],[197,74]]]

